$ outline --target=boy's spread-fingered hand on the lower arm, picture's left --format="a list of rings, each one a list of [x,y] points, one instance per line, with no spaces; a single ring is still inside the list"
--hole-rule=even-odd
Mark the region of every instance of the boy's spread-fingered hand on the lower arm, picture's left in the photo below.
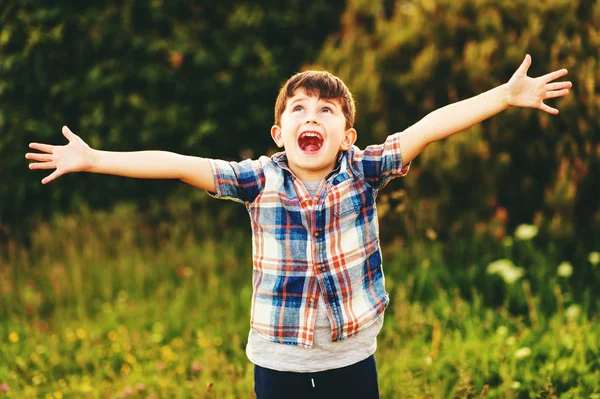
[[[56,169],[42,180],[42,184],[71,172],[84,172],[92,167],[92,149],[79,136],[63,126],[63,135],[69,140],[67,145],[31,143],[29,148],[41,152],[28,152],[25,158],[33,162],[29,169]]]

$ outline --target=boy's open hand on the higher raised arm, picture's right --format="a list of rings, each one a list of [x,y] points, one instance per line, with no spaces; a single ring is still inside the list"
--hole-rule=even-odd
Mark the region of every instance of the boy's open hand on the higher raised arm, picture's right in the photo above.
[[[531,78],[527,76],[527,70],[530,66],[531,56],[527,54],[519,69],[507,83],[507,105],[539,108],[550,114],[558,114],[558,109],[544,104],[544,100],[569,94],[569,89],[572,86],[571,82],[553,82],[565,76],[567,70],[559,69],[537,78]]]

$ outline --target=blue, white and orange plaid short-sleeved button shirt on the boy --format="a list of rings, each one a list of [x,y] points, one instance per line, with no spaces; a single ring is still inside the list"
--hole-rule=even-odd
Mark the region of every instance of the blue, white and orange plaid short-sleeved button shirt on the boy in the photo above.
[[[285,152],[210,160],[217,198],[243,203],[252,223],[251,328],[272,342],[312,347],[323,296],[332,341],[371,325],[386,308],[375,198],[404,176],[399,135],[340,154],[311,198]]]

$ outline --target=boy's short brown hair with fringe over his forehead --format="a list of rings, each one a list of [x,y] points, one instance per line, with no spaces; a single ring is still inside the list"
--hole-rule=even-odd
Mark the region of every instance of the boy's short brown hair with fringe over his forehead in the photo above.
[[[281,125],[281,115],[285,111],[287,101],[296,94],[298,89],[303,89],[307,94],[317,95],[319,98],[340,100],[346,118],[346,129],[354,126],[356,107],[352,93],[342,79],[326,71],[299,72],[285,82],[275,102],[276,125]]]

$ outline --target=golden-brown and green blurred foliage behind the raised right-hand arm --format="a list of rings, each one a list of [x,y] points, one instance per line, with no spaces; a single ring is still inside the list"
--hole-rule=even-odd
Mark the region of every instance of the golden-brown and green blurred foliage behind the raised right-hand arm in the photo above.
[[[600,234],[599,27],[597,1],[350,0],[316,64],[355,94],[363,145],[507,82],[526,53],[530,76],[568,68],[571,94],[547,100],[559,116],[511,109],[429,146],[395,186],[396,219],[409,237],[443,240],[500,240],[533,222],[581,262]]]

